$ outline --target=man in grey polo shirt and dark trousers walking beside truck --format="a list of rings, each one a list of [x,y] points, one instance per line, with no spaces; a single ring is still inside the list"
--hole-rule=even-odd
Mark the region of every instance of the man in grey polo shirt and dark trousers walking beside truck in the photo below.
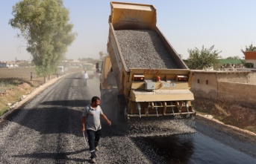
[[[84,108],[82,117],[82,129],[81,131],[87,131],[88,142],[90,146],[90,159],[92,163],[96,163],[96,153],[99,150],[99,139],[101,137],[102,125],[100,117],[102,117],[107,124],[111,125],[110,120],[103,114],[102,108],[99,106],[100,99],[98,96],[93,96],[92,103]]]

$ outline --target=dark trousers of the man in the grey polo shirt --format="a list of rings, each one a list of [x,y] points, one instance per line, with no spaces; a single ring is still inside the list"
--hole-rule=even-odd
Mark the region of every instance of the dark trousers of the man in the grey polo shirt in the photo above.
[[[101,130],[98,131],[93,131],[93,130],[87,130],[87,135],[88,135],[88,142],[90,146],[90,158],[93,159],[96,157],[95,154],[95,147],[99,145],[99,139],[102,135]]]

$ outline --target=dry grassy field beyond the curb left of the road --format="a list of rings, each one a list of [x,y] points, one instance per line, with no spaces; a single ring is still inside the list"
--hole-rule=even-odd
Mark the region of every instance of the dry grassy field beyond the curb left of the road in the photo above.
[[[66,73],[81,72],[82,68],[69,68]],[[32,80],[30,73],[33,73]],[[51,79],[55,74],[51,74]],[[18,102],[23,95],[28,95],[35,88],[43,85],[44,77],[37,76],[34,68],[0,68],[0,117]]]

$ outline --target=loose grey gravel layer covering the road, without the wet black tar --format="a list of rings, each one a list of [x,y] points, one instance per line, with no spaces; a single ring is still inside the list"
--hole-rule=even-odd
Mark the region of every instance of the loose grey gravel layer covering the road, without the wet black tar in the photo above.
[[[0,163],[89,163],[89,147],[81,134],[81,114],[91,97],[99,95],[99,79],[88,80],[88,87],[84,88],[81,73],[65,76],[41,91],[35,99],[1,122]],[[110,113],[104,104],[101,106],[105,114]],[[133,119],[128,124],[113,121],[111,126],[102,122],[96,163],[169,163],[157,154],[157,148],[145,142],[145,137],[194,133],[191,128],[194,123],[193,119],[148,119],[143,122]],[[215,136],[222,142],[225,140],[227,145],[240,136],[225,129],[230,136],[227,140],[220,132],[213,134],[208,128],[211,124],[217,129],[215,131],[223,130],[209,121],[205,123],[207,128],[199,125],[196,131]],[[240,142],[234,146],[238,149],[242,145],[241,149],[246,149],[243,152],[255,154],[255,147],[249,146],[254,142],[246,142],[249,137],[244,137],[246,135],[237,137]]]

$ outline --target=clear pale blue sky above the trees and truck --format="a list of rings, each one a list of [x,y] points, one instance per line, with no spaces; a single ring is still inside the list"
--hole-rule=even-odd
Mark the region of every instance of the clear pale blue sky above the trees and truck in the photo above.
[[[25,41],[16,38],[17,29],[8,24],[13,18],[12,6],[18,0],[0,1],[0,61],[31,59]],[[187,59],[187,50],[202,45],[221,50],[220,56],[240,56],[246,45],[256,45],[255,0],[131,0],[131,3],[153,4],[157,9],[157,26],[172,47]],[[67,59],[92,57],[107,52],[109,0],[64,0],[69,9],[77,39],[66,53]]]

